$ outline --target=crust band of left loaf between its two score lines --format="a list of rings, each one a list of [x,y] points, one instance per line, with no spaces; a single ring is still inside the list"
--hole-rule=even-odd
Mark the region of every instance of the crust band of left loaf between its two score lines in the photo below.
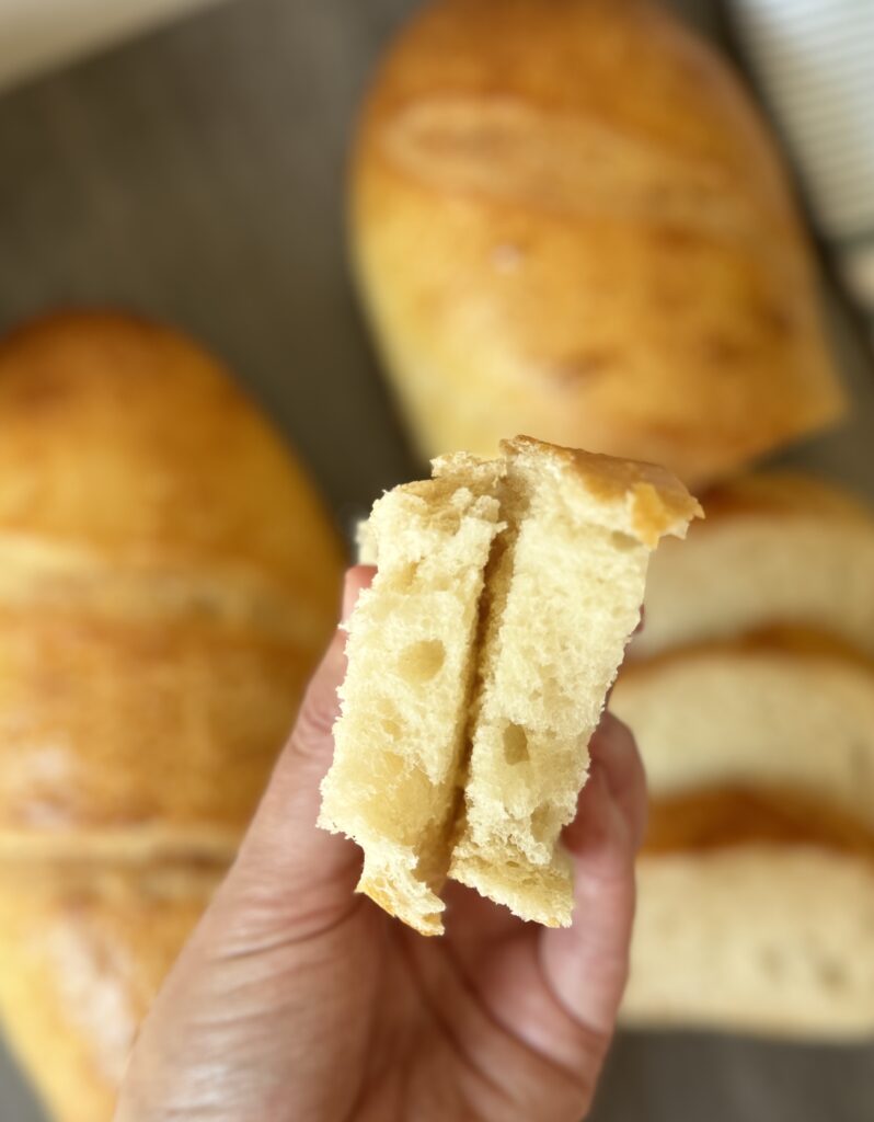
[[[0,858],[236,849],[316,652],[0,607]]]

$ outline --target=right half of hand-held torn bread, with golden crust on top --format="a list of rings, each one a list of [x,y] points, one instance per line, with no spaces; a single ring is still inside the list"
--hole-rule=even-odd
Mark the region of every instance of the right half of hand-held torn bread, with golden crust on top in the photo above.
[[[588,743],[640,620],[646,565],[696,502],[660,468],[505,442],[498,540],[478,652],[464,806],[450,875],[523,919],[568,926],[559,837]]]

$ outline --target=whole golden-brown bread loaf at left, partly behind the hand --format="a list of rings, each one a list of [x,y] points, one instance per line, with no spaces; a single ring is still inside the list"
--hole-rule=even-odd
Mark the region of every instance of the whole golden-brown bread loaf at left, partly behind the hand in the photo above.
[[[0,343],[0,1014],[102,1122],[335,618],[311,484],[199,347],[111,313]]]

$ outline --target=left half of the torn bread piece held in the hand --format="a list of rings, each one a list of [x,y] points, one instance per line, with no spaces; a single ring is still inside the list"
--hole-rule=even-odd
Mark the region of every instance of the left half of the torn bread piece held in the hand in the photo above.
[[[319,825],[364,848],[358,890],[423,935],[442,931],[436,893],[449,867],[484,573],[503,525],[502,470],[452,457],[433,479],[384,495],[359,535],[378,572],[348,625]]]

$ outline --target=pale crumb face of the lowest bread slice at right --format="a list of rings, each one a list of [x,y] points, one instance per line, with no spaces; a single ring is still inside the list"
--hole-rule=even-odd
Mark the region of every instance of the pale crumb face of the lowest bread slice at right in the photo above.
[[[874,861],[744,845],[637,863],[626,1024],[874,1033]]]

